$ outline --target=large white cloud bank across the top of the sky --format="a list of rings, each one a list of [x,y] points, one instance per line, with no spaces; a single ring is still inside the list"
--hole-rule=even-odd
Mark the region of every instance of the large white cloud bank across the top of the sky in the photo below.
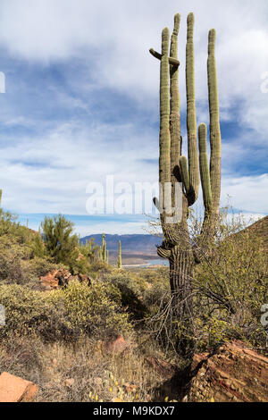
[[[198,122],[208,120],[207,32],[217,29],[217,66],[222,121],[236,118],[255,130],[255,141],[268,139],[267,95],[261,90],[268,71],[266,0],[3,0],[0,6],[0,44],[29,62],[51,63],[80,58],[91,79],[102,88],[115,88],[134,97],[144,109],[158,103],[159,63],[149,54],[159,50],[161,29],[172,30],[174,13],[181,13],[179,36],[180,97],[185,108],[185,44],[188,12],[196,14],[195,50]],[[76,75],[73,75],[75,78]],[[77,75],[79,79],[79,75]],[[82,89],[85,80],[77,80]],[[92,84],[92,80],[90,82]],[[70,105],[87,108],[80,99],[63,97]]]

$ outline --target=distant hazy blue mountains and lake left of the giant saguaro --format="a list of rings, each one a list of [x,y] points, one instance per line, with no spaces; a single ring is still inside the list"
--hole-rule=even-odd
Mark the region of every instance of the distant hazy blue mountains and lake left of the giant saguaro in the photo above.
[[[94,238],[96,245],[101,246],[103,235],[89,235],[80,239],[81,243],[85,243],[89,239]],[[123,264],[143,263],[148,259],[157,259],[156,245],[160,245],[162,238],[155,235],[105,235],[105,241],[111,260],[118,256],[118,242],[121,240],[121,252]]]

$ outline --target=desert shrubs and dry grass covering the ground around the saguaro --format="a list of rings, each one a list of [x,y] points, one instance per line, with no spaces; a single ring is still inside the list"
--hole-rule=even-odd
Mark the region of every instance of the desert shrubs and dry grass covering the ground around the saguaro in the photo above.
[[[58,221],[70,226],[63,216],[52,222]],[[190,225],[192,235],[198,234],[194,214]],[[241,215],[230,217],[222,209],[217,240],[193,273],[194,352],[214,351],[234,339],[265,351],[260,308],[268,298],[267,258],[262,237],[245,227]],[[167,267],[127,271],[88,255],[85,247],[84,253],[78,248],[76,266],[77,242],[70,254],[54,253],[44,236],[4,210],[0,229],[0,304],[6,315],[0,371],[38,383],[40,401],[180,400],[178,378],[190,360],[176,346],[189,332],[174,317]],[[53,242],[58,231],[51,235]],[[69,236],[72,243],[71,229]],[[68,235],[62,236],[66,249],[64,240],[69,247]],[[91,284],[74,280],[42,290],[40,276],[59,267],[72,273],[82,268]],[[126,349],[108,351],[105,342],[120,336]]]

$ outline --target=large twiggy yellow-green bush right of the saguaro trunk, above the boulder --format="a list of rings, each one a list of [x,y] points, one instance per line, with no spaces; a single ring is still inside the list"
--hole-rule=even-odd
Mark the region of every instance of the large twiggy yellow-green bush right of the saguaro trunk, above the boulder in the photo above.
[[[264,346],[260,309],[268,302],[268,262],[264,241],[245,229],[241,215],[221,214],[217,241],[193,279],[197,346],[247,340]]]

